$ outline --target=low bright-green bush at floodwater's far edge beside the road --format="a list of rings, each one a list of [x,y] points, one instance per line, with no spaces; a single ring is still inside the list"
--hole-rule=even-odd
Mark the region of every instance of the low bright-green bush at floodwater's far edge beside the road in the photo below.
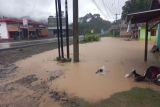
[[[85,34],[82,43],[100,41],[101,37],[98,34]]]

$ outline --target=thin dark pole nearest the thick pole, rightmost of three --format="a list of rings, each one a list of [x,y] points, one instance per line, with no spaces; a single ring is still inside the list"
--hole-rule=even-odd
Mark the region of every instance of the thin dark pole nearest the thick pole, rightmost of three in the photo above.
[[[70,58],[69,55],[69,32],[68,32],[68,3],[67,0],[65,0],[65,11],[66,11],[66,45],[67,45],[67,59]]]

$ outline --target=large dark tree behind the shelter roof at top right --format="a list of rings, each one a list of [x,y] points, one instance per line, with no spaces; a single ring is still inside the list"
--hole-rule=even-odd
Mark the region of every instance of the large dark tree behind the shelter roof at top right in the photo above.
[[[128,0],[122,7],[122,19],[125,19],[127,14],[149,10],[152,0]]]

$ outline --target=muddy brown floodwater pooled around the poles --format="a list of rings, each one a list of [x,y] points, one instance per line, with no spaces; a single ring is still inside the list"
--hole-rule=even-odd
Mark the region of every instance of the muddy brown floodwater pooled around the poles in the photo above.
[[[149,49],[152,46],[153,43],[150,42]],[[17,78],[7,82],[31,74],[35,74],[40,80],[47,81],[51,75],[54,75],[54,71],[63,71],[61,77],[49,83],[49,89],[65,91],[70,96],[78,96],[90,102],[100,101],[132,87],[159,90],[158,86],[151,83],[135,83],[133,78],[124,78],[124,75],[133,68],[143,74],[148,66],[160,65],[159,54],[153,55],[149,52],[148,62],[143,61],[143,55],[144,41],[103,38],[101,42],[80,45],[80,63],[57,63],[54,61],[57,57],[57,50],[18,61],[16,62]],[[97,75],[95,72],[101,66],[105,66],[106,73]],[[7,82],[3,82],[3,84]],[[55,104],[45,95],[42,99],[41,106]]]

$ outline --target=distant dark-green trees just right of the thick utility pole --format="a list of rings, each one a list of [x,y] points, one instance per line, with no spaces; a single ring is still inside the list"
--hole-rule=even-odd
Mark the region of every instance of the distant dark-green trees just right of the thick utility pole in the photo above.
[[[101,33],[107,31],[111,26],[111,22],[103,20],[99,14],[87,14],[84,17],[79,18],[79,33],[86,34]]]

